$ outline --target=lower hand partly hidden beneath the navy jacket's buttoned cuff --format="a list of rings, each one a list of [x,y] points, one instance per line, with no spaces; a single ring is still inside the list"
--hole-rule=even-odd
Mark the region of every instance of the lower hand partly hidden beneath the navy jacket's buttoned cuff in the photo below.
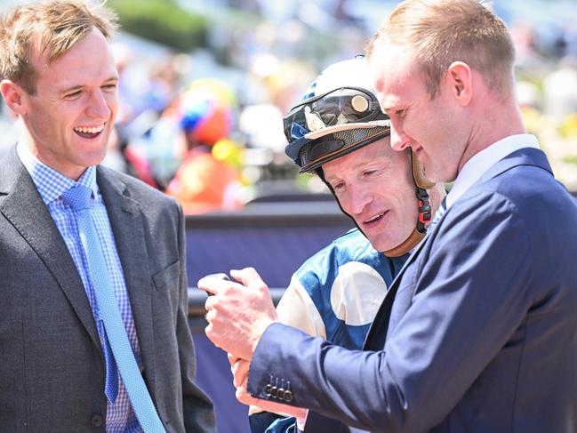
[[[232,372],[233,383],[236,388],[236,399],[239,402],[244,405],[258,406],[266,412],[292,415],[301,420],[306,418],[307,409],[302,407],[284,405],[282,403],[252,397],[246,389],[248,386],[249,361],[239,359],[231,354],[228,354],[228,361],[230,362],[230,371]]]

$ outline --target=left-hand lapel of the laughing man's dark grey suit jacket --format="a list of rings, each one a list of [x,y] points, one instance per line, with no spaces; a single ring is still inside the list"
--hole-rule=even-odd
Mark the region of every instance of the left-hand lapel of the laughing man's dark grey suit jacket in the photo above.
[[[4,173],[0,193],[6,194],[0,212],[50,269],[92,341],[100,348],[92,309],[74,261],[15,148],[0,163],[0,172]]]

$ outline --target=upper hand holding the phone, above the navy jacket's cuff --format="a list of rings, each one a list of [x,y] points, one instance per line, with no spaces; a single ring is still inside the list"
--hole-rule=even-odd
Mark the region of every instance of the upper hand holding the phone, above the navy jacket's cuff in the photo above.
[[[260,336],[276,322],[276,310],[256,270],[231,270],[230,275],[241,284],[212,277],[198,281],[198,288],[214,295],[204,303],[204,333],[215,346],[250,361]]]

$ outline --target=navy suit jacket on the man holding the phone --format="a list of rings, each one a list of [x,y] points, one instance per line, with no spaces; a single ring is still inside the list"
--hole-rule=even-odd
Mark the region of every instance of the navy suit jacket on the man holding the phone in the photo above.
[[[290,381],[293,405],[372,431],[577,432],[576,245],[577,202],[517,150],[413,253],[365,351],[270,325],[249,392]]]

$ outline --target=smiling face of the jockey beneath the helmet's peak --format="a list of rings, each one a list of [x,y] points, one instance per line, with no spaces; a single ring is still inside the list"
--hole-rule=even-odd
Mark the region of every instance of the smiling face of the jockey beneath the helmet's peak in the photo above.
[[[411,235],[417,199],[409,158],[390,148],[389,137],[323,164],[323,172],[375,250],[388,251]]]

